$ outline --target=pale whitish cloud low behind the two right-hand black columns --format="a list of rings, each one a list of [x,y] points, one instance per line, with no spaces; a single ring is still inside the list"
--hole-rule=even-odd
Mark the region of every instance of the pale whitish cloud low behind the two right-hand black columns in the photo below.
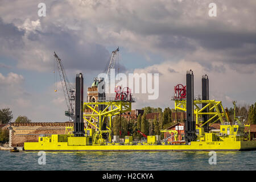
[[[170,67],[175,68],[176,72],[168,71]],[[201,76],[207,74],[209,76],[210,100],[222,101],[224,107],[232,107],[233,100],[236,100],[238,104],[253,104],[255,101],[251,98],[254,98],[254,93],[250,90],[256,90],[255,80],[252,79],[256,78],[256,73],[245,76],[230,69],[227,64],[223,64],[222,67],[224,67],[225,72],[214,69],[205,71],[204,67],[198,63],[181,60],[178,63],[166,61],[144,69],[135,69],[134,72],[150,73],[151,69],[154,68],[161,74],[159,74],[159,98],[148,100],[147,94],[134,94],[137,102],[133,107],[137,109],[144,106],[174,107],[174,101],[170,100],[174,94],[174,86],[177,84],[185,85],[185,75],[189,69],[192,69],[194,73],[195,96],[201,95]]]

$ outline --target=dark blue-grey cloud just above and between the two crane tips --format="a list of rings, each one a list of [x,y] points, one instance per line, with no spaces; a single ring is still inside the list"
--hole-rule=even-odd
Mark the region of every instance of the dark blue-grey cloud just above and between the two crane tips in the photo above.
[[[72,31],[63,31],[52,27],[51,32],[38,32],[38,41],[49,50],[56,51],[63,60],[65,69],[83,69],[103,71],[109,58],[109,52],[100,44],[86,42]]]

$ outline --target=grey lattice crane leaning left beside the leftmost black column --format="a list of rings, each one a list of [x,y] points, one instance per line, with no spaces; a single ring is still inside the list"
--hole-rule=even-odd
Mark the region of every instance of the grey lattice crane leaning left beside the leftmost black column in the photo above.
[[[55,52],[54,57],[56,59],[57,67],[59,69],[60,81],[63,88],[65,101],[68,107],[68,110],[65,111],[65,116],[68,116],[71,118],[72,121],[75,121],[75,89],[69,83],[61,59],[59,58],[59,56],[56,55]]]

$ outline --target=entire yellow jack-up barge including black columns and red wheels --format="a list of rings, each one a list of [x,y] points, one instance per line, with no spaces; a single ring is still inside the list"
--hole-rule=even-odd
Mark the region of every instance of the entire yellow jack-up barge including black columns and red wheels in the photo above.
[[[134,102],[130,91],[117,94],[114,100],[100,95],[97,101],[82,101],[82,74],[76,77],[76,116],[74,128],[66,128],[65,135],[39,137],[38,142],[24,142],[26,151],[242,151],[256,150],[256,141],[250,140],[250,125],[236,117],[229,117],[221,101],[209,100],[208,76],[202,77],[202,99],[193,96],[193,72],[187,72],[187,86],[175,87],[175,110],[187,112],[185,141],[167,142],[147,136],[147,141],[135,143],[133,137],[125,136],[123,143],[112,140],[112,119],[115,115],[131,111]],[[96,84],[97,85],[97,84]],[[102,88],[105,88],[102,86]],[[129,89],[127,89],[129,90]],[[178,91],[178,92],[177,92]],[[128,97],[129,96],[129,97]],[[117,99],[118,98],[118,99]],[[123,99],[125,98],[125,99]],[[210,125],[220,122],[220,130],[210,130]],[[84,126],[85,124],[85,126]],[[245,127],[249,132],[245,133]],[[68,131],[69,130],[69,131]],[[166,132],[167,130],[162,130]],[[177,131],[173,133],[177,139]]]

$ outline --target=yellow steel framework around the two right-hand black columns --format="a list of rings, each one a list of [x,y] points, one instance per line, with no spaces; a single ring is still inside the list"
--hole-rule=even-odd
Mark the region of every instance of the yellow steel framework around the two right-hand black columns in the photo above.
[[[183,110],[187,111],[186,107],[186,100],[175,100],[175,110]],[[200,108],[201,104],[207,104],[204,107]],[[211,126],[213,123],[220,121],[221,123],[224,123],[225,121],[228,121],[228,118],[226,117],[225,110],[223,109],[223,106],[221,104],[221,101],[214,101],[214,100],[195,100],[194,101],[194,114],[196,115],[196,125],[199,127],[204,126],[205,124],[210,123],[209,126]],[[208,112],[204,113],[204,111],[208,108]],[[203,121],[200,121],[200,117],[204,114],[209,115],[208,121],[202,123]]]

